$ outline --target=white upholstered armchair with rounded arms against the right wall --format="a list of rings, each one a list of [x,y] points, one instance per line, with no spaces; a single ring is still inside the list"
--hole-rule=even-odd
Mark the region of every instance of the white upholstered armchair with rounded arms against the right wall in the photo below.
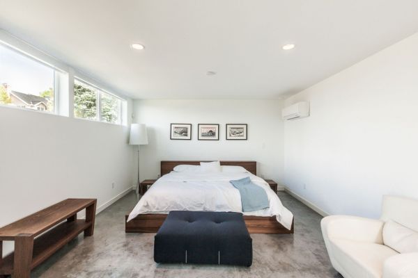
[[[418,250],[399,253],[385,245],[386,222],[396,222],[412,233],[418,231],[418,201],[384,196],[380,220],[346,215],[323,218],[321,229],[336,271],[345,278],[418,278]],[[389,242],[386,228],[385,233],[385,242]],[[394,234],[396,238],[392,230],[392,238]],[[412,240],[414,244],[407,245],[415,250],[417,236]]]

